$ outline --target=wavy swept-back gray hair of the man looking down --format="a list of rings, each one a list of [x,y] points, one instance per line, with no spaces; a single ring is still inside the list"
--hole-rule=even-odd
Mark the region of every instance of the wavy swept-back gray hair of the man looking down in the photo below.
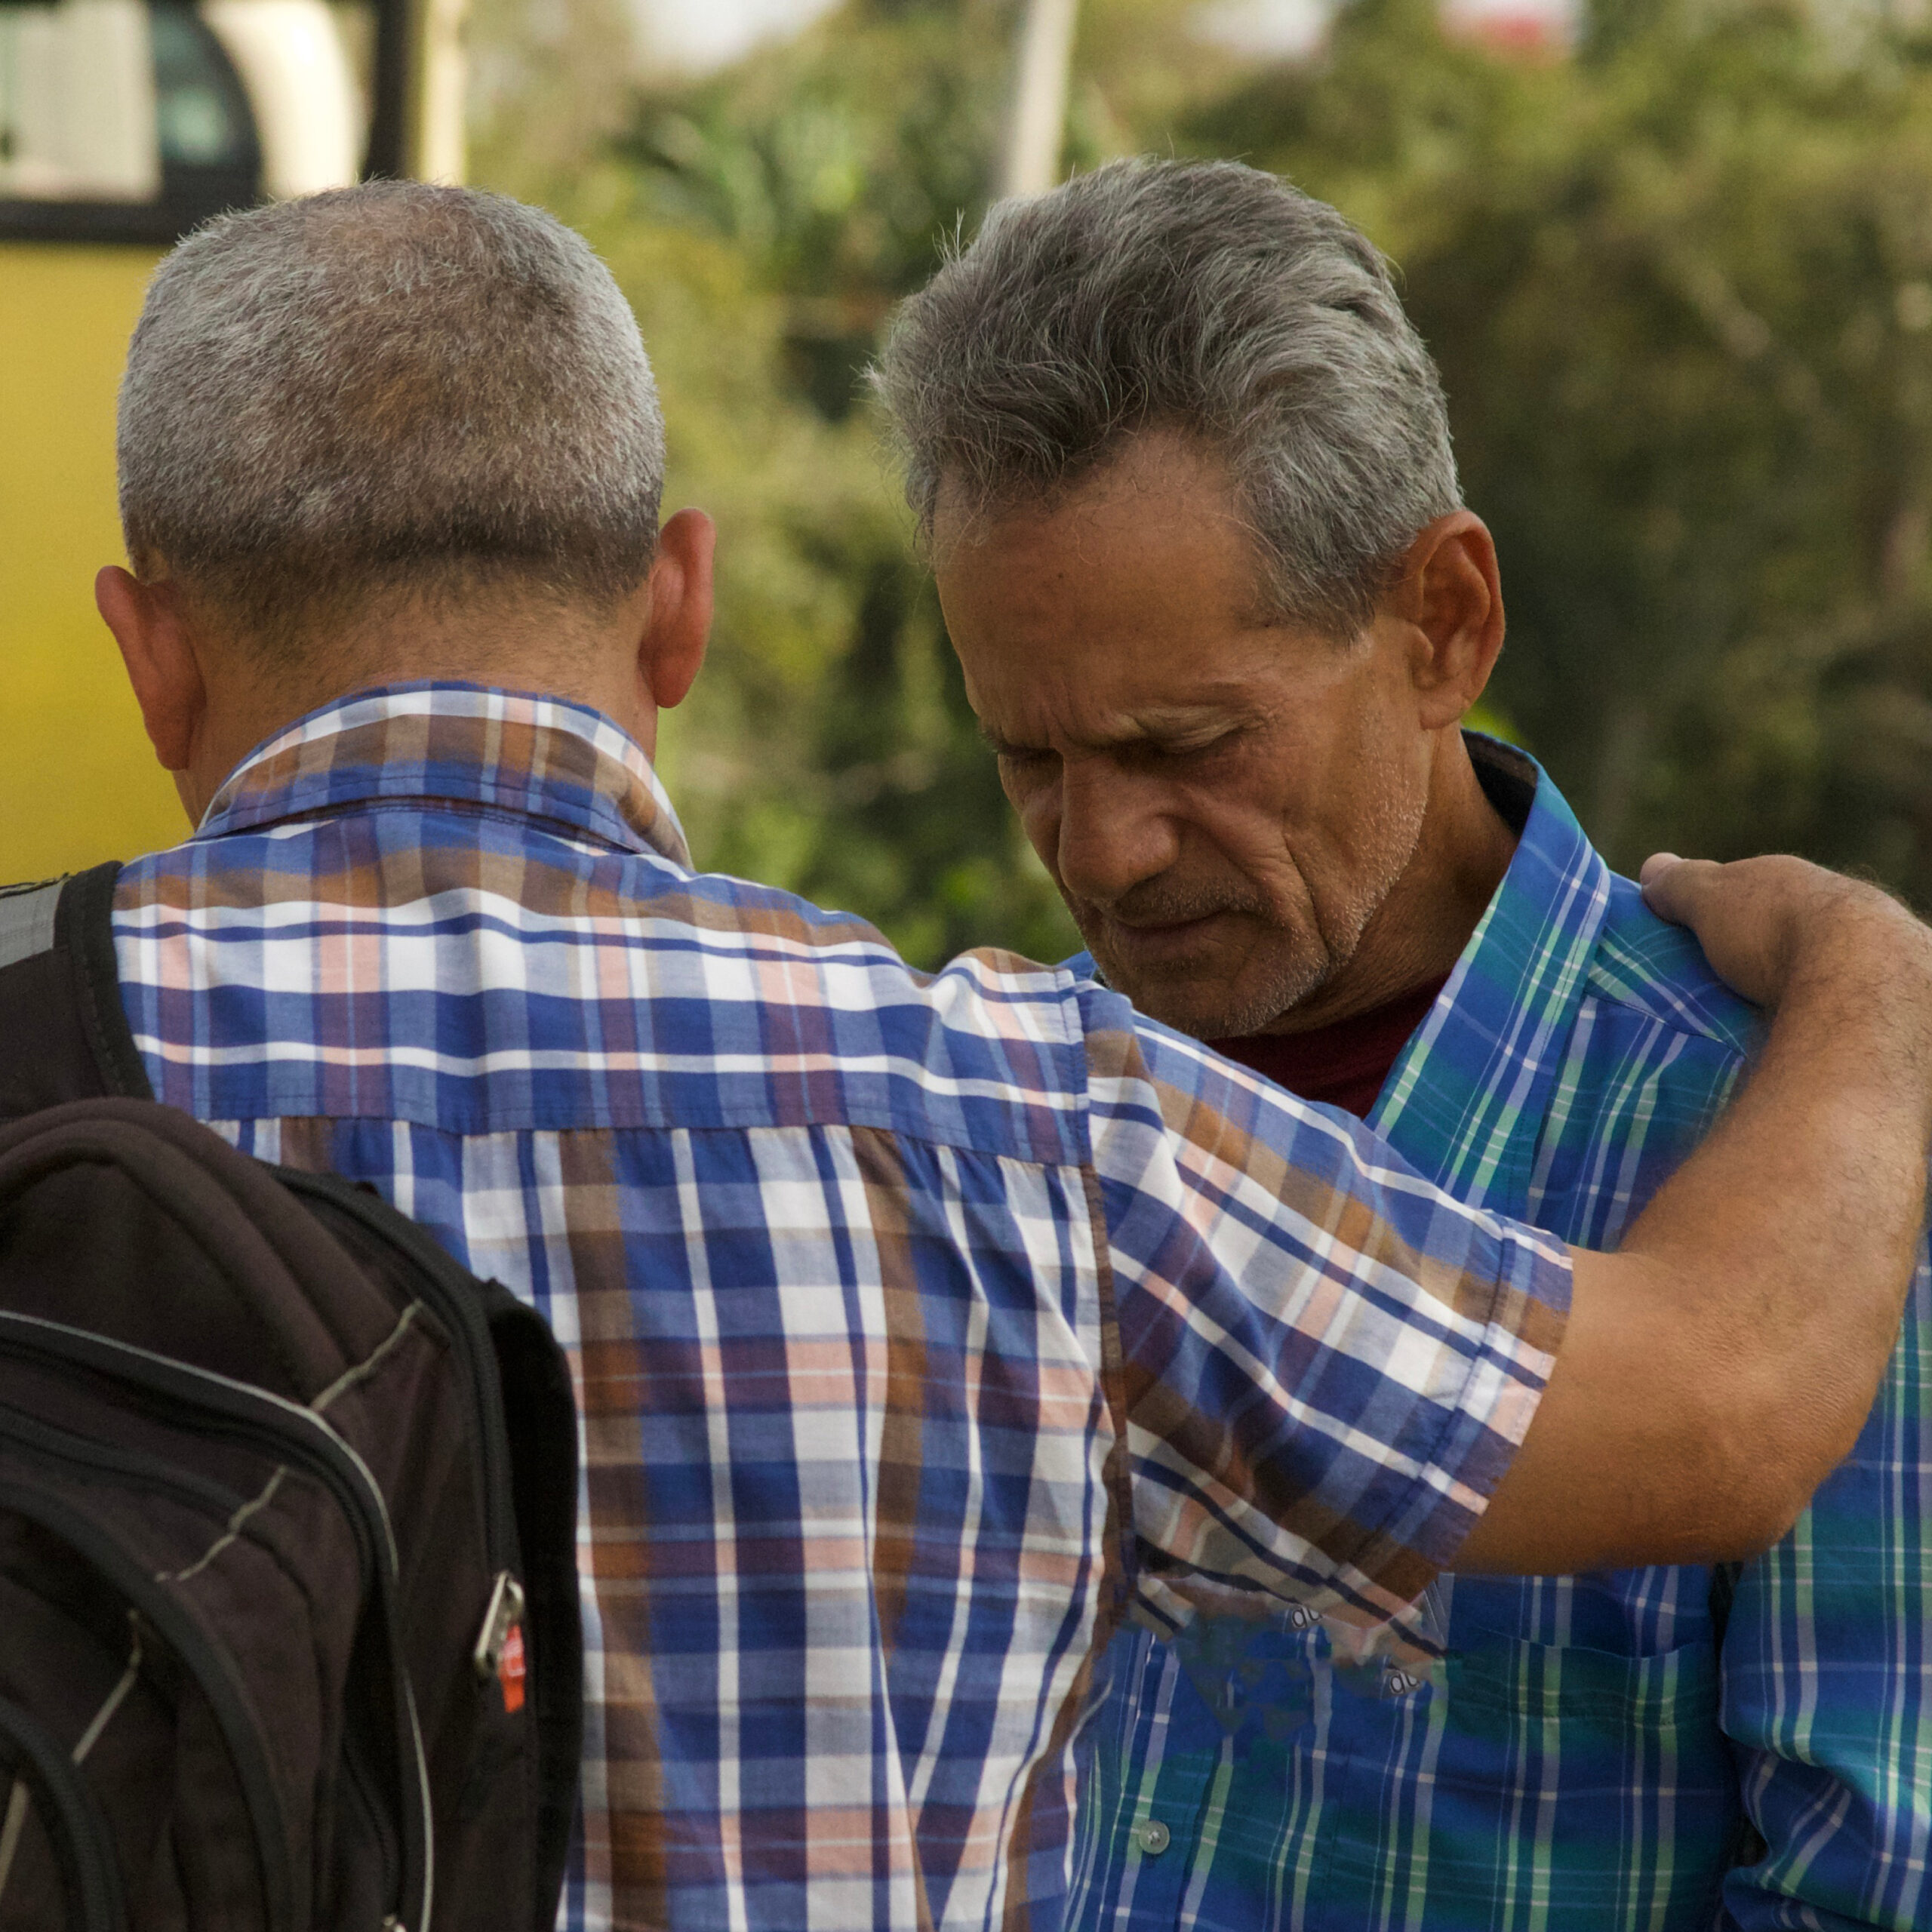
[[[1378,249],[1238,162],[1121,160],[1003,201],[898,313],[873,383],[931,537],[1049,498],[1144,429],[1227,462],[1267,605],[1349,636],[1461,506],[1441,381]]]

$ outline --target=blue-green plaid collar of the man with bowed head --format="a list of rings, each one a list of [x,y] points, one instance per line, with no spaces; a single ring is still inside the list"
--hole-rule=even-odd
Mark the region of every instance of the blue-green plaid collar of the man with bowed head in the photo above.
[[[1609,908],[1609,867],[1542,767],[1470,736],[1536,792],[1501,887],[1368,1121],[1459,1200],[1528,1206],[1536,1136],[1561,1070],[1590,956]]]

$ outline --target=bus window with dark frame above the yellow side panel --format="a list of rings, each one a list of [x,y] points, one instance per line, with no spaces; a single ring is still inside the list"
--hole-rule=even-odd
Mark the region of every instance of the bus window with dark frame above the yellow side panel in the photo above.
[[[357,180],[373,0],[0,0],[0,238],[172,242]]]

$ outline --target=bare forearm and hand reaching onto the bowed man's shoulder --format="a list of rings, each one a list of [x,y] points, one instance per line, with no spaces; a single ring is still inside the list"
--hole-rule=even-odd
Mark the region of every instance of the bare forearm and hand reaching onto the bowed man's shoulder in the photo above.
[[[1577,1256],[1555,1374],[1461,1569],[1748,1555],[1870,1406],[1924,1217],[1932,939],[1833,881],[1787,947],[1712,952],[1777,999],[1770,1037],[1623,1250]]]

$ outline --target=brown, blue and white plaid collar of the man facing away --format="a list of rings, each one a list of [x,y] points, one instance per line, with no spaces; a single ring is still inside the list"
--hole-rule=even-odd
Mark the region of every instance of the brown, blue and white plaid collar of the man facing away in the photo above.
[[[589,705],[477,684],[388,684],[311,711],[257,746],[197,838],[384,802],[481,806],[690,866],[643,748]]]

